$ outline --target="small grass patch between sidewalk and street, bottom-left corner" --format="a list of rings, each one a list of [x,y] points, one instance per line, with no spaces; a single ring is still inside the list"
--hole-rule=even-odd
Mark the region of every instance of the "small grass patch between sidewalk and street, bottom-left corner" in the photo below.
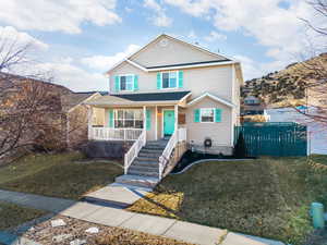
[[[0,230],[15,228],[44,215],[46,215],[44,211],[0,201]]]

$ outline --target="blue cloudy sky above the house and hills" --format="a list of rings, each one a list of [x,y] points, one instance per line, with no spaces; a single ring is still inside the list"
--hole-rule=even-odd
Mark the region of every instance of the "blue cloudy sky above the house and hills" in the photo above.
[[[0,0],[0,42],[33,44],[33,69],[108,90],[114,63],[165,33],[242,63],[245,79],[299,61],[318,38],[305,0]],[[320,22],[320,23],[319,23]]]

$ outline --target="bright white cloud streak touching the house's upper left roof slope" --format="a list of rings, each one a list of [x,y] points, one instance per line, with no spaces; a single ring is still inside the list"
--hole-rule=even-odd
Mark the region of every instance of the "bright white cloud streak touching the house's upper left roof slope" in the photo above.
[[[81,62],[92,69],[96,69],[99,71],[107,71],[113,64],[118,63],[132,52],[136,51],[140,48],[137,45],[130,45],[123,52],[118,52],[113,56],[94,56],[86,57],[81,60]]]

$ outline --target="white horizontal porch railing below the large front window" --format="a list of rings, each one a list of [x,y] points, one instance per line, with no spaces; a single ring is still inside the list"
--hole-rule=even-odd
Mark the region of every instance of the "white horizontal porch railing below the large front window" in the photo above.
[[[89,127],[89,139],[95,140],[136,140],[142,134],[140,128]]]

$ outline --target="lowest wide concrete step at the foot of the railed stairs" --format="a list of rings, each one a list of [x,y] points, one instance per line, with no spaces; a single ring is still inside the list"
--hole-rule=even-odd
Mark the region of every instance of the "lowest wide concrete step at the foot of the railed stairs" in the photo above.
[[[154,188],[158,183],[158,177],[140,176],[132,174],[124,174],[116,177],[116,182],[119,184],[128,184],[138,187]]]

